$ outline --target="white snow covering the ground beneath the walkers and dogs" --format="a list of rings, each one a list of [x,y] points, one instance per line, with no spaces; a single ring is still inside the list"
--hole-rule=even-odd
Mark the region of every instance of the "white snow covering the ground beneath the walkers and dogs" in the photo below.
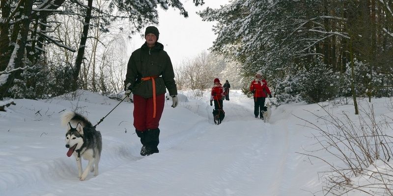
[[[60,117],[77,111],[96,124],[117,100],[79,90],[52,99],[2,101],[16,105],[0,112],[0,196],[322,196],[321,172],[330,167],[299,154],[319,148],[311,137],[317,132],[304,120],[329,126],[310,113],[327,116],[322,105],[359,123],[353,105],[339,99],[335,105],[281,105],[272,108],[270,122],[264,123],[253,116],[253,99],[238,90],[231,90],[229,98],[223,123],[215,125],[207,92],[196,98],[179,91],[176,108],[170,107],[171,100],[165,104],[160,152],[150,156],[140,156],[132,125],[134,105],[121,102],[97,126],[103,140],[99,174],[89,173],[84,181],[78,178],[75,157],[66,156],[66,128]],[[360,109],[368,107],[366,99],[358,101]],[[372,99],[377,120],[393,119],[391,103],[390,98]],[[312,154],[337,161],[326,151]],[[83,160],[83,168],[86,164]]]

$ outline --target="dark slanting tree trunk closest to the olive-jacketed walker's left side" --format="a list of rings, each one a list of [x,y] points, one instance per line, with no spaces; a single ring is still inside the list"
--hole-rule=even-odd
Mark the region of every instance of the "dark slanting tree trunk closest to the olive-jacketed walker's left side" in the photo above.
[[[73,68],[73,82],[72,82],[72,90],[77,90],[78,89],[78,76],[79,72],[81,71],[81,65],[82,61],[84,58],[84,50],[85,50],[85,45],[86,45],[86,40],[87,40],[87,35],[89,31],[89,25],[90,25],[90,19],[91,19],[91,9],[93,6],[93,0],[88,0],[87,2],[87,10],[86,10],[86,16],[84,17],[84,26],[83,26],[83,31],[82,31],[82,37],[81,37],[81,42],[79,44],[79,49],[78,49],[78,55],[75,60],[75,65]]]

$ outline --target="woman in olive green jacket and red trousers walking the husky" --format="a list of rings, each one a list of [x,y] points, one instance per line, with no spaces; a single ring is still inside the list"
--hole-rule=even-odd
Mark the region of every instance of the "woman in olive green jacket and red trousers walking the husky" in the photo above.
[[[157,42],[158,37],[156,27],[146,28],[146,42],[131,54],[124,80],[126,94],[134,94],[134,127],[142,144],[142,156],[159,152],[158,126],[164,110],[166,89],[172,97],[173,108],[178,102],[172,63],[164,51],[164,45]]]

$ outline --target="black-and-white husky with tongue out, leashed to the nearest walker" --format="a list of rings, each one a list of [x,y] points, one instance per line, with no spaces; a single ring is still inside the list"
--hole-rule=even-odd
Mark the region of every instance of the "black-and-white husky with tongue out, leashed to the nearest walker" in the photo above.
[[[95,130],[84,116],[75,112],[65,113],[61,117],[61,122],[63,125],[67,124],[65,147],[68,148],[67,156],[74,154],[77,160],[79,179],[86,179],[89,171],[94,172],[94,176],[98,175],[102,149],[101,133]],[[76,124],[76,127],[72,127],[71,124]],[[83,172],[81,156],[89,161]]]

